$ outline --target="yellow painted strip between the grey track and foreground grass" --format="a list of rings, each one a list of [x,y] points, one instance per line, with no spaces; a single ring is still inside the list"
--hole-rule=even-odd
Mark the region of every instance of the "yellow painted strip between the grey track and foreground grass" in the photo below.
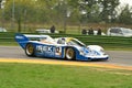
[[[68,62],[68,61],[52,61],[52,59],[28,59],[28,58],[0,58],[0,63],[24,63],[24,64],[48,64],[48,65],[67,65],[67,66],[89,66],[112,69],[132,70],[132,66],[122,66],[114,64],[97,64],[87,62]]]

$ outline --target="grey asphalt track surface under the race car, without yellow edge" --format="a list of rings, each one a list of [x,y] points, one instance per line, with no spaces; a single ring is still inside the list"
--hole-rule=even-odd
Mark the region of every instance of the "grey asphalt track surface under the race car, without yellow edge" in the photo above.
[[[132,52],[123,52],[123,51],[107,51],[108,55],[110,56],[108,62],[70,62],[69,64],[96,64],[96,65],[112,65],[112,66],[129,66],[132,68]],[[32,59],[38,59],[41,62],[43,61],[54,61],[54,62],[67,62],[67,61],[59,61],[55,58],[38,58],[38,57],[28,57],[24,53],[24,51],[19,46],[0,46],[0,59],[29,59],[31,62]],[[38,62],[36,61],[36,62]],[[100,66],[101,67],[101,66]],[[125,68],[125,67],[124,67]]]

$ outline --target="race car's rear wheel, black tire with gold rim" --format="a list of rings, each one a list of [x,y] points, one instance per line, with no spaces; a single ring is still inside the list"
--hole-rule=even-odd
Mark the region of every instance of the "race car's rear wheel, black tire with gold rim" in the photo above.
[[[25,54],[30,57],[34,56],[34,46],[32,44],[26,44]]]

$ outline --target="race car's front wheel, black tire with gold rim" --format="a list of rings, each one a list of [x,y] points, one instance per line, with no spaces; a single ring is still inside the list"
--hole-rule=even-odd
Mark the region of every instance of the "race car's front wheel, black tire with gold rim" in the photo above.
[[[74,48],[72,48],[72,47],[66,48],[65,57],[68,61],[75,59],[75,51],[74,51]]]

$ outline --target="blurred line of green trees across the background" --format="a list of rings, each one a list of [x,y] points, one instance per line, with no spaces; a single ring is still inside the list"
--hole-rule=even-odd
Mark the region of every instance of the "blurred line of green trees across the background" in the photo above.
[[[26,23],[132,23],[132,8],[119,8],[119,0],[6,0],[0,6],[4,21],[14,21],[21,30]],[[3,11],[4,10],[4,11]]]

